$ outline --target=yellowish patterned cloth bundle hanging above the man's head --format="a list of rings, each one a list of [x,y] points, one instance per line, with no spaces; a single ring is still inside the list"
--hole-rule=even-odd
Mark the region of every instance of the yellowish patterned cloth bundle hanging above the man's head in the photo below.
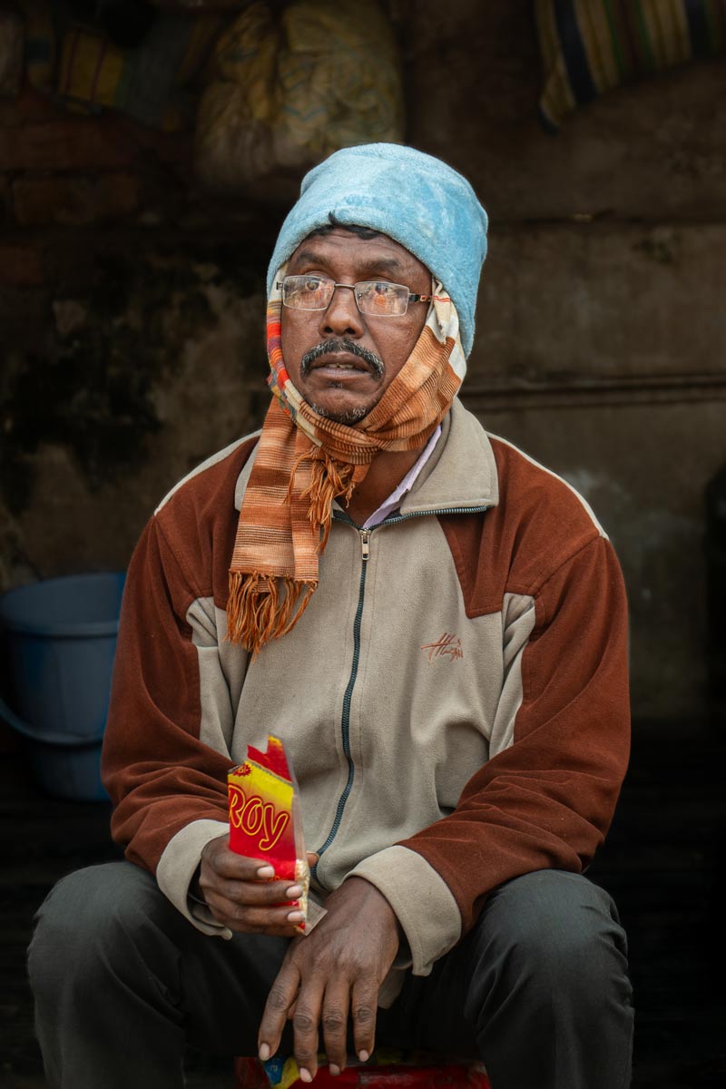
[[[403,139],[398,45],[378,0],[249,3],[220,38],[211,75],[196,150],[214,187],[238,194],[276,171],[299,176],[340,147]]]

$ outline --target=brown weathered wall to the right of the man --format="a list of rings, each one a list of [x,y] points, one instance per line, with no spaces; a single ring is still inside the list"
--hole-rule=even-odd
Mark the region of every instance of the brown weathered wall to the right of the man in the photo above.
[[[491,213],[465,400],[592,502],[631,604],[633,706],[705,710],[703,489],[726,462],[726,64],[533,119],[527,0],[423,0],[411,143]]]

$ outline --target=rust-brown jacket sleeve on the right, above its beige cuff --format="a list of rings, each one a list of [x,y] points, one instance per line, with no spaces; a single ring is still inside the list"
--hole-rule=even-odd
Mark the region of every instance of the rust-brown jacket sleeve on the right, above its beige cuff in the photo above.
[[[513,743],[472,775],[454,812],[402,844],[447,883],[463,932],[502,882],[588,865],[627,767],[627,611],[613,549],[591,533],[543,582],[540,570],[509,574],[509,588],[531,595],[534,609]],[[473,582],[468,598],[476,613]]]

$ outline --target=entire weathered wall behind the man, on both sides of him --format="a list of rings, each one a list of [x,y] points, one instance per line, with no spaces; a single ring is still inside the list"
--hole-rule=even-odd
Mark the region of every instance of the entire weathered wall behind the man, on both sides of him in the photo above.
[[[702,491],[726,461],[726,68],[546,136],[528,0],[393,0],[409,142],[491,249],[466,400],[592,501],[622,556],[641,714],[705,709]],[[415,10],[415,17],[414,17]],[[256,425],[281,209],[211,201],[188,140],[0,103],[0,588],[123,566],[167,489]]]

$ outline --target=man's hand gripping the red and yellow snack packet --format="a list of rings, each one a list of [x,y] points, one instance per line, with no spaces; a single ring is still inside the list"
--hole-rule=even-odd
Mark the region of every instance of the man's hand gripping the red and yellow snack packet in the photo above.
[[[217,921],[230,930],[295,935],[303,913],[290,903],[284,905],[302,896],[303,889],[295,881],[273,878],[271,866],[230,851],[226,835],[210,840],[201,852],[199,889]]]

